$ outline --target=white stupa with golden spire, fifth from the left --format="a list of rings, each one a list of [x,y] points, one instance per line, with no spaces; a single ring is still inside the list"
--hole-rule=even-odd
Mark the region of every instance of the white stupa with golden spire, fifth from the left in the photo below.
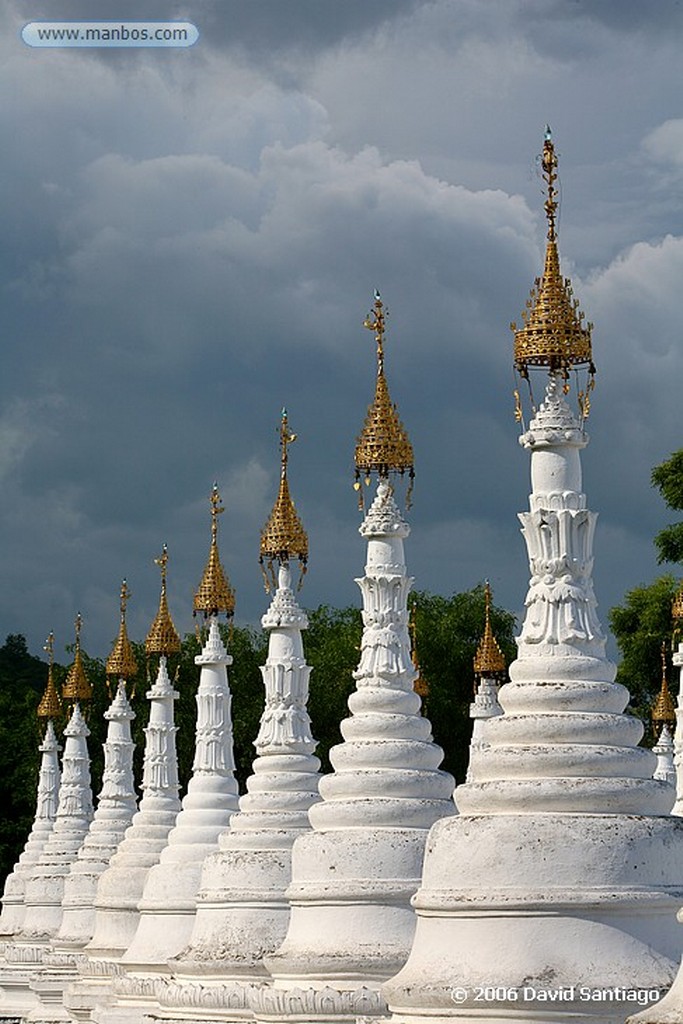
[[[206,642],[195,664],[201,669],[197,692],[197,735],[193,776],[182,810],[160,861],[150,871],[139,904],[137,931],[122,957],[128,977],[117,983],[119,995],[146,994],[150,975],[167,973],[167,961],[183,949],[193,932],[202,864],[218,846],[238,809],[238,782],[232,754],[232,719],[227,653],[218,615],[234,612],[234,593],[218,554],[218,516],[223,512],[217,485],[211,495],[211,546],[195,595],[195,614],[208,623]]]

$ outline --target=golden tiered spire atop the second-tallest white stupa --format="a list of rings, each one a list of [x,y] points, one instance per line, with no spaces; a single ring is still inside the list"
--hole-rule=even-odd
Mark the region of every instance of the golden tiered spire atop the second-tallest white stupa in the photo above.
[[[384,322],[388,312],[385,311],[380,293],[375,292],[375,307],[364,321],[364,327],[375,332],[377,342],[377,383],[375,398],[368,410],[366,422],[355,444],[355,482],[353,486],[358,495],[358,507],[362,508],[362,493],[360,477],[365,475],[366,483],[370,483],[370,475],[376,472],[380,479],[388,479],[389,473],[408,472],[411,483],[405,503],[410,507],[415,463],[413,445],[405,428],[398,418],[396,407],[391,401],[389,388],[384,376]]]

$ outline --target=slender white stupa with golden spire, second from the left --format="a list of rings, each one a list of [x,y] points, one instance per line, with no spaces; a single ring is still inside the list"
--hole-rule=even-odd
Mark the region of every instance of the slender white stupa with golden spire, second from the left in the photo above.
[[[92,697],[81,655],[80,614],[76,617],[74,663],[62,687],[62,697],[73,708],[65,729],[59,802],[54,827],[40,859],[26,881],[26,915],[18,936],[23,943],[47,944],[61,924],[61,900],[71,865],[92,820],[92,790],[87,737],[90,735],[81,705]]]

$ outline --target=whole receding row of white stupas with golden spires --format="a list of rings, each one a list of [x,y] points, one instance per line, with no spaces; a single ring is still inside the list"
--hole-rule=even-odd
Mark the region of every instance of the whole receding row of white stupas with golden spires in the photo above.
[[[390,483],[396,473],[412,477],[413,451],[389,397],[376,296],[366,321],[377,341],[376,391],[355,458],[358,487],[373,474],[378,486],[360,526],[364,632],[334,770],[319,774],[306,712],[306,617],[290,572],[293,559],[305,562],[306,537],[289,493],[293,435],[284,416],[281,487],[261,546],[275,572],[263,617],[265,708],[247,792],[239,797],[233,777],[231,658],[217,625],[233,597],[218,555],[222,508],[214,490],[210,556],[196,598],[206,631],[187,793],[180,804],[177,693],[167,671],[179,641],[164,553],[147,638],[159,672],[147,693],[137,809],[125,588],[108,662],[119,683],[94,816],[78,643],[60,779],[50,674],[36,820],[3,898],[0,1016],[615,1024],[640,1011],[637,1020],[647,1024],[683,1024],[683,972],[675,981],[683,820],[671,814],[671,734],[663,730],[657,755],[638,746],[642,725],[625,714],[629,694],[613,681],[596,614],[596,515],[582,493],[580,457],[591,335],[560,275],[556,165],[548,133],[546,263],[515,329],[520,376],[548,374],[520,437],[531,457],[530,507],[520,516],[531,578],[526,613],[500,692],[504,666],[486,618],[470,766],[455,800],[414,688],[410,528]],[[566,395],[569,371],[582,368],[589,376],[577,417]],[[521,420],[519,399],[518,412]],[[674,660],[683,667],[683,644]],[[677,736],[682,715],[679,708]],[[680,810],[681,788],[678,799]]]

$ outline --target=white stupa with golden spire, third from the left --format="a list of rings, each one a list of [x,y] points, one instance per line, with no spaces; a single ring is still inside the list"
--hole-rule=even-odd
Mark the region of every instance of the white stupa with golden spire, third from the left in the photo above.
[[[104,769],[97,810],[88,835],[65,881],[61,902],[62,919],[53,947],[56,952],[82,949],[92,938],[95,926],[97,883],[112,856],[119,848],[137,808],[133,780],[134,743],[130,723],[135,713],[126,694],[126,682],[137,673],[137,664],[126,631],[126,605],[130,598],[128,584],[121,586],[121,622],[114,648],[106,659],[106,675],[117,681],[110,708],[103,744]]]

